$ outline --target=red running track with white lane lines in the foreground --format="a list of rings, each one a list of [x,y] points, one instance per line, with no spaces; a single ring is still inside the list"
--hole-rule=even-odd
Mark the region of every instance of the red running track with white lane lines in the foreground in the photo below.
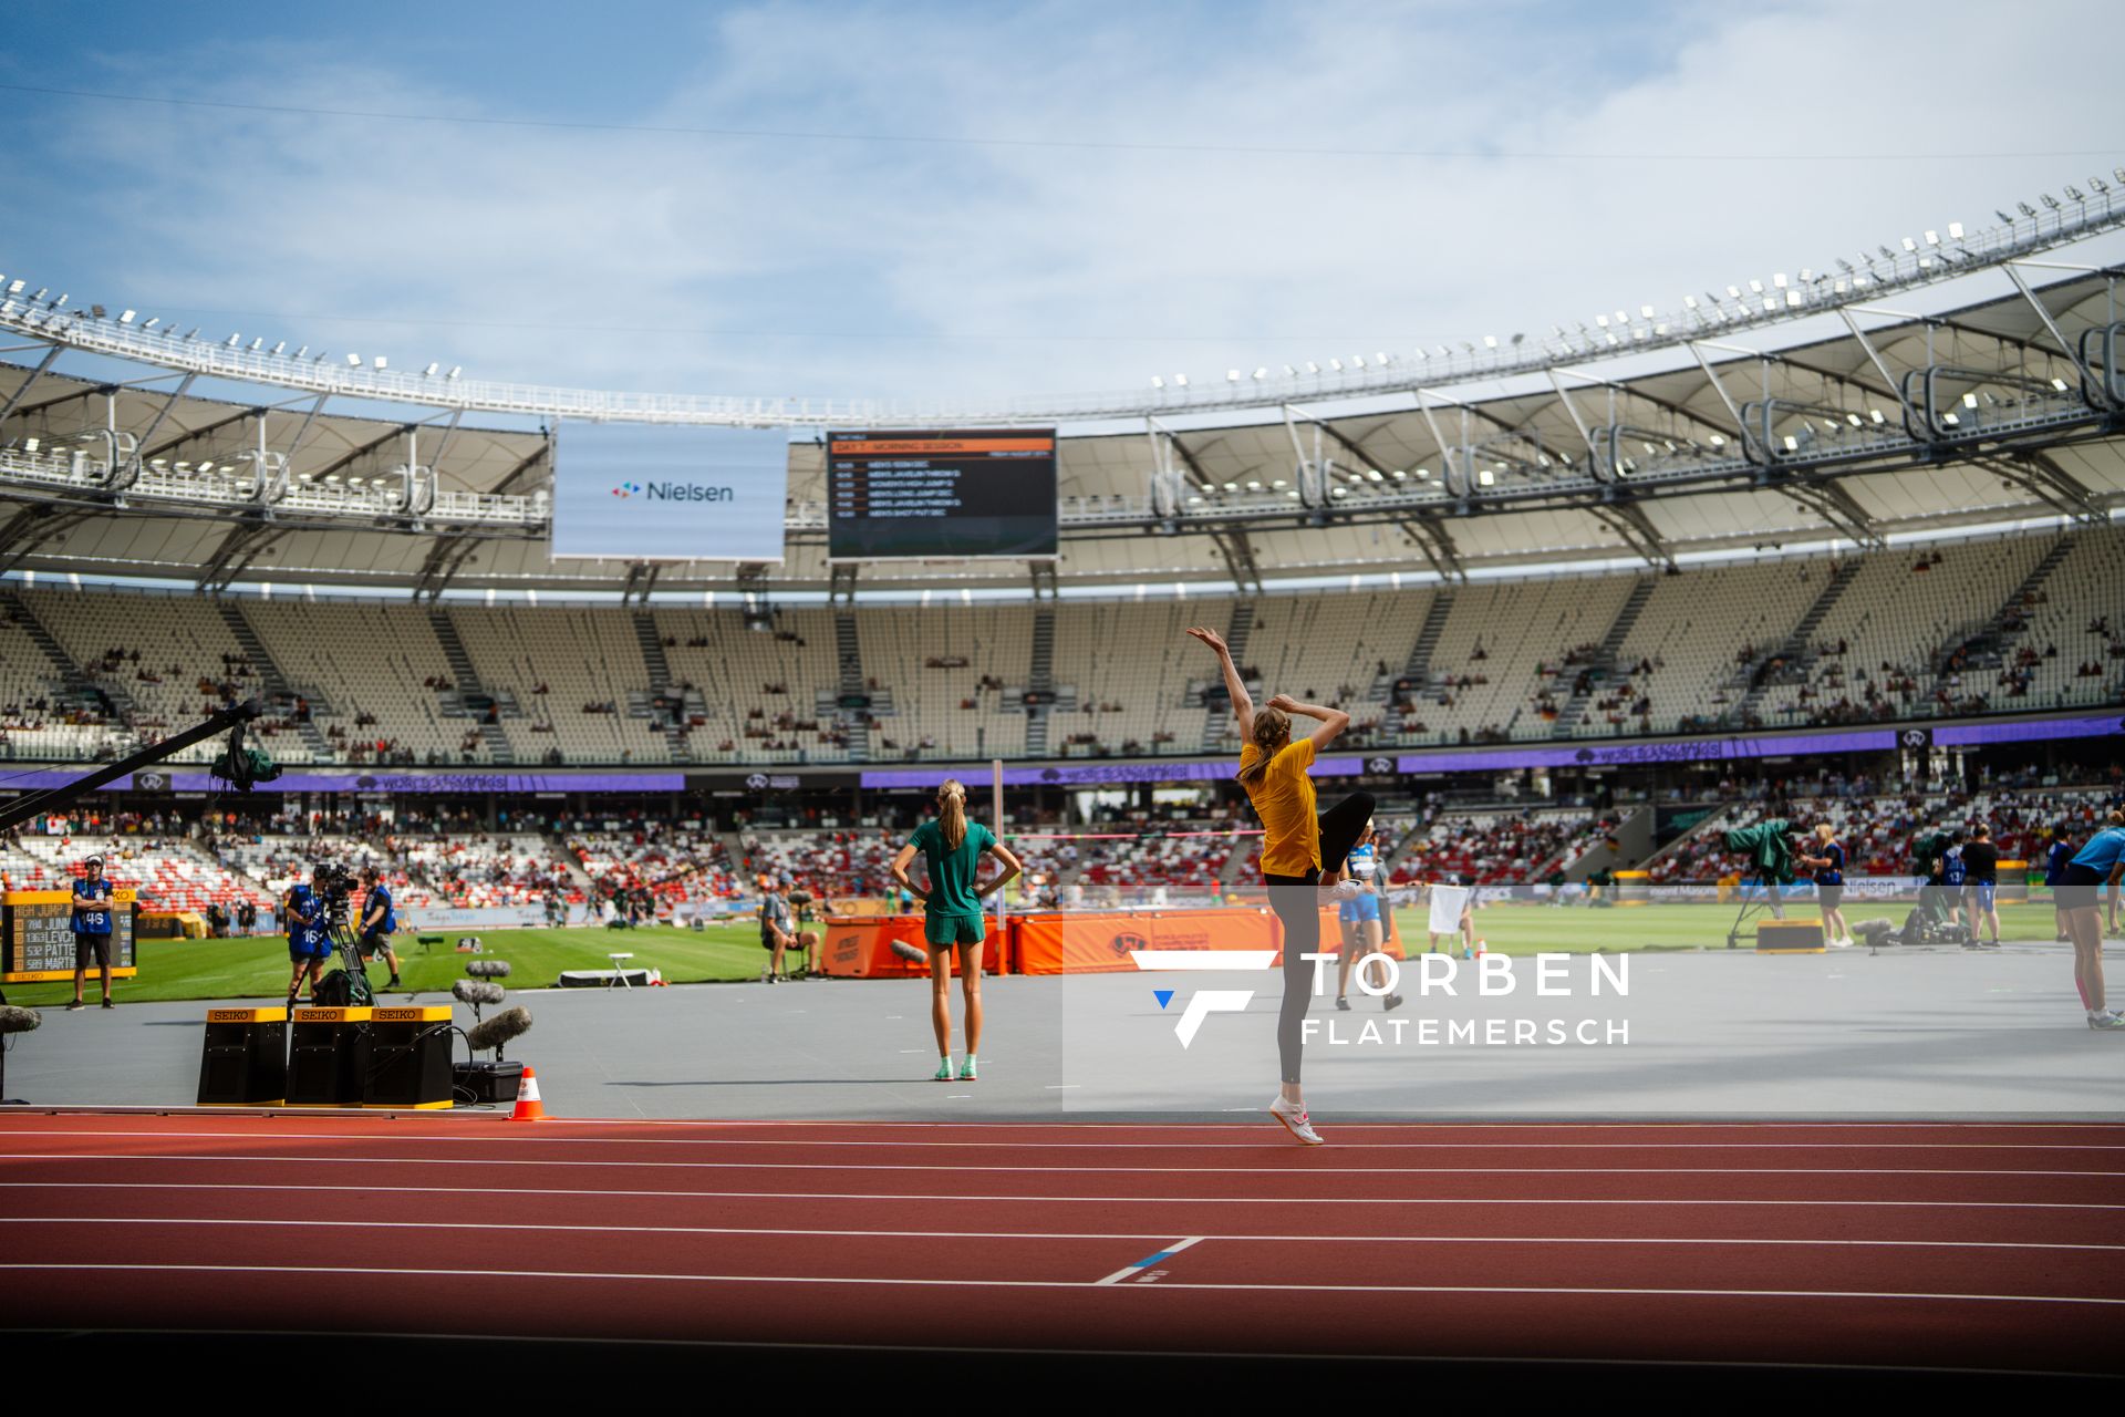
[[[0,1324],[2114,1372],[2125,1126],[6,1115]]]

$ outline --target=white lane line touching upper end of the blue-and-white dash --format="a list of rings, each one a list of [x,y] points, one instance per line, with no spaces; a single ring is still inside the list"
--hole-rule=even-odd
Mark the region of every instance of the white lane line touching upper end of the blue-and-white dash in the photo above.
[[[589,1234],[759,1234],[858,1241],[1156,1241],[1156,1232],[1105,1230],[795,1230],[784,1226],[555,1226],[499,1219],[227,1219],[206,1215],[0,1215],[0,1226],[295,1226],[342,1230],[559,1230]],[[1853,1241],[1853,1239],[1742,1239],[1643,1234],[1196,1234],[1152,1256],[1162,1260],[1203,1241],[1273,1245],[1785,1245],[1842,1249],[2089,1249],[2125,1251],[2125,1245],[2068,1245],[2063,1241]],[[1133,1268],[1141,1268],[1139,1262]],[[1128,1270],[1122,1270],[1128,1273]],[[1103,1279],[1101,1283],[1111,1283]]]

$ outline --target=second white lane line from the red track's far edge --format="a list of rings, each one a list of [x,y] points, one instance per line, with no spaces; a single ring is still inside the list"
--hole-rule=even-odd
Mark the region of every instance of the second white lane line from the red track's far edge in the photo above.
[[[963,1096],[963,1094],[954,1094]],[[232,1151],[0,1151],[0,1162],[264,1162],[274,1166],[599,1166],[635,1171],[1001,1171],[1007,1175],[1239,1175],[1239,1177],[1515,1177],[1515,1175],[1587,1175],[1587,1177],[2089,1177],[2119,1179],[2125,1171],[2008,1171],[1953,1166],[1307,1166],[1305,1171],[1273,1171],[1266,1166],[988,1166],[988,1164],[916,1164],[916,1162],[642,1162],[642,1160],[557,1160],[508,1156],[244,1156]]]

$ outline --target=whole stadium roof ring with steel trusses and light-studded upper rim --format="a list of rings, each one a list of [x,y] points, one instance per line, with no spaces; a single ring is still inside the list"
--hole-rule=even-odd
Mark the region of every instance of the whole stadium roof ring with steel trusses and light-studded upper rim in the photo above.
[[[461,588],[661,591],[733,584],[727,563],[555,563],[552,427],[650,423],[1007,425],[1122,421],[1062,440],[1073,582],[1638,557],[1768,540],[1881,546],[1893,531],[2012,518],[2093,523],[2125,506],[2119,268],[2038,259],[2125,227],[2125,191],[1966,238],[1906,240],[1834,274],[1728,287],[1683,312],[1619,310],[1594,331],[1218,389],[1022,399],[990,408],[761,402],[521,389],[176,336],[0,278],[0,571]],[[1976,304],[1887,304],[1991,278]],[[1757,336],[1830,317],[1842,334]],[[1602,374],[1619,355],[1672,368]],[[113,382],[62,353],[142,368]],[[113,361],[125,361],[113,365]],[[1643,363],[1643,361],[1640,361]],[[455,374],[455,372],[453,372]],[[1237,374],[1237,372],[1235,372]],[[208,397],[238,382],[255,399]],[[1475,397],[1473,385],[1509,393]],[[395,416],[376,419],[378,402]],[[1352,408],[1354,402],[1362,406]],[[468,414],[510,414],[480,427]],[[1228,421],[1205,427],[1205,416]],[[1230,416],[1245,414],[1245,421]],[[790,448],[778,586],[827,591],[818,442]],[[873,567],[878,584],[1024,584],[997,563]]]

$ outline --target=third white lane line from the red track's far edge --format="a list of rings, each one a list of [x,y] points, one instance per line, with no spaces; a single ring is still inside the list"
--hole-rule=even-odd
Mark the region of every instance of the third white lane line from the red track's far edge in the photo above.
[[[259,1190],[314,1192],[317,1185],[264,1181],[0,1181],[0,1190]],[[1037,1205],[1791,1205],[1791,1207],[1904,1207],[1904,1209],[1972,1209],[1972,1211],[2125,1211],[2110,1200],[1749,1200],[1740,1196],[1666,1198],[1666,1196],[978,1196],[944,1192],[922,1196],[903,1190],[584,1190],[574,1185],[393,1185],[393,1196],[648,1196],[659,1200],[1026,1200]]]

